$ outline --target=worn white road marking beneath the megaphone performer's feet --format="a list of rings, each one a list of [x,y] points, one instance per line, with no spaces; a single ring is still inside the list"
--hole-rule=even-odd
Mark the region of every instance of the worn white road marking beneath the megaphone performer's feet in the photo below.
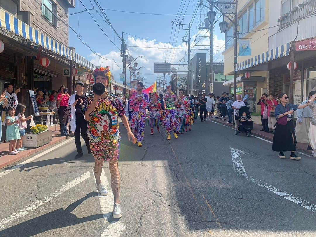
[[[93,173],[93,170],[92,170],[92,173]],[[112,211],[113,211],[114,195],[113,195],[112,190],[110,189],[109,181],[106,178],[106,175],[103,169],[102,169],[100,179],[101,179],[102,184],[105,186],[105,188],[108,191],[107,196],[102,196],[98,193],[104,224],[107,224],[108,218],[112,215]],[[95,181],[95,177],[94,177],[94,181]],[[105,237],[105,236],[119,237],[124,233],[125,231],[124,222],[121,220],[119,221],[115,221],[115,220],[116,219],[114,219],[111,223],[109,223],[109,225],[101,234],[101,237]]]

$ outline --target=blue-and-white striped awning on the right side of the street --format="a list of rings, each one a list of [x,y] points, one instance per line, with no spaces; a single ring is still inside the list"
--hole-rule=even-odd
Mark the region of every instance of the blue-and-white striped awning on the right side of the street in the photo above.
[[[235,72],[240,70],[245,70],[247,68],[251,68],[253,66],[267,63],[277,58],[282,58],[284,56],[288,56],[290,54],[290,43],[285,45],[281,45],[276,47],[275,49],[271,49],[270,51],[259,54],[258,56],[249,58],[241,63],[235,65]]]

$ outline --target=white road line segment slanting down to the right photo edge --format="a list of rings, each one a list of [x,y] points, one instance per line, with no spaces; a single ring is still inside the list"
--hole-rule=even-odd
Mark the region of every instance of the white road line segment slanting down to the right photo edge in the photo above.
[[[269,191],[275,193],[276,195],[284,197],[285,199],[288,199],[291,202],[294,202],[294,203],[306,208],[307,210],[316,212],[316,205],[314,205],[314,204],[311,204],[311,203],[309,203],[309,202],[307,202],[299,197],[296,197],[293,194],[290,194],[290,193],[282,191],[276,187],[273,187],[272,185],[268,185],[267,183],[265,183],[259,179],[255,179],[255,178],[251,177],[251,180],[255,184],[265,188],[266,190],[269,190]]]

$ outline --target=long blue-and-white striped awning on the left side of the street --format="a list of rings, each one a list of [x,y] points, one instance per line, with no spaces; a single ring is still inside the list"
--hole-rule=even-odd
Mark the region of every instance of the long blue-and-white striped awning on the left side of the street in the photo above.
[[[16,35],[19,35],[22,38],[29,40],[39,46],[42,46],[43,48],[57,53],[66,59],[73,60],[76,64],[79,64],[90,70],[94,70],[96,68],[96,66],[90,63],[87,59],[83,58],[52,38],[46,36],[40,31],[33,29],[3,9],[0,9],[0,27],[3,27],[9,32],[13,32]]]

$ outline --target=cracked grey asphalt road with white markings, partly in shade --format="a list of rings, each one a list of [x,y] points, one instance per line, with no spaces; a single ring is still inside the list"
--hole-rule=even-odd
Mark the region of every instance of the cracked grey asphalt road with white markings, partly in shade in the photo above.
[[[146,127],[142,148],[121,133],[121,219],[70,138],[0,170],[0,236],[316,236],[314,157],[281,160],[270,142],[214,122],[170,141]]]

